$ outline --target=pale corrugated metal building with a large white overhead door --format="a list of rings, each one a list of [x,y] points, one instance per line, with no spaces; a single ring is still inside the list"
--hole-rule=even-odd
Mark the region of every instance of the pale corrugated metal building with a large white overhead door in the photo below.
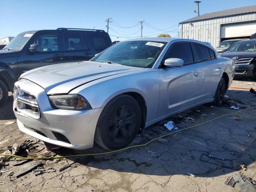
[[[256,5],[206,13],[179,26],[180,38],[209,42],[216,48],[223,40],[250,38],[256,33]]]

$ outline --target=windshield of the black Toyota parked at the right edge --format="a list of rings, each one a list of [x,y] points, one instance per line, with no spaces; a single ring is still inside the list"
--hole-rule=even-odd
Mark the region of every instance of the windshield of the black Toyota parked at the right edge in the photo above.
[[[237,51],[256,51],[256,41],[238,41],[232,46],[230,46],[226,51],[237,52]]]

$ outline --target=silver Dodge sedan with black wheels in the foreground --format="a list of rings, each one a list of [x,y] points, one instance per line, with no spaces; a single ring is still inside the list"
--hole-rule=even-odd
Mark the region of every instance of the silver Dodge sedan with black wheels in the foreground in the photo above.
[[[234,62],[204,42],[127,40],[90,61],[22,74],[13,110],[20,130],[45,142],[85,149],[95,141],[115,150],[173,114],[221,105],[234,73]]]

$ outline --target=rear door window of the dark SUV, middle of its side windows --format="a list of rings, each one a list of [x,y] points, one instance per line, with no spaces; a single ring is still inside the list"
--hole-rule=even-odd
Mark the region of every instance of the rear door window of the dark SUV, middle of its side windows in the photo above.
[[[64,34],[64,51],[84,50],[81,34]]]

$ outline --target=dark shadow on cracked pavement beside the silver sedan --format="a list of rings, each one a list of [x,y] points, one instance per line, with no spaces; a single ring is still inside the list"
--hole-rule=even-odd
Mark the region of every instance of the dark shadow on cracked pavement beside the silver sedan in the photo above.
[[[239,110],[256,106],[256,95],[249,94],[248,90],[228,90],[228,98],[223,106],[206,104],[187,110],[171,118],[158,122],[142,130],[132,144],[144,144],[149,140],[174,132],[173,134],[155,140],[143,147],[134,147],[128,150],[111,154],[91,155],[68,158],[73,162],[97,169],[110,169],[118,172],[141,173],[157,176],[192,173],[198,177],[214,177],[236,170],[240,165],[250,166],[256,161],[256,109],[241,112],[241,120],[231,115],[201,124],[218,116],[238,112]],[[230,109],[230,105],[239,106],[239,110]],[[186,117],[193,118],[186,120]],[[174,121],[176,130],[167,130],[164,123]],[[58,155],[68,154],[95,154],[107,152],[97,144],[88,150],[71,150],[61,148]],[[207,158],[201,161],[202,154],[211,154],[219,158]],[[227,160],[231,160],[232,168],[226,168]],[[219,165],[218,165],[219,164]],[[220,166],[222,165],[222,166]]]

